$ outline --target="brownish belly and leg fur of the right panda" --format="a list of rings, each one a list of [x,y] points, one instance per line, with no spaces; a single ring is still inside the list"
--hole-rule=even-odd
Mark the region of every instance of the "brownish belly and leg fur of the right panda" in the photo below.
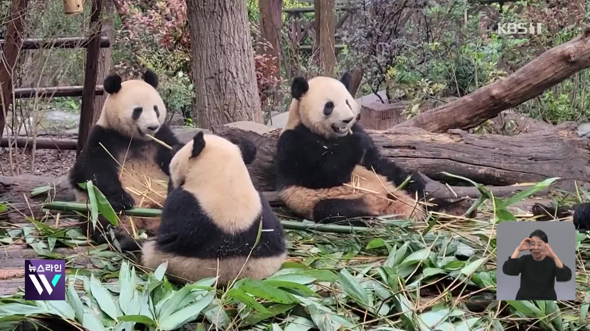
[[[415,200],[404,191],[396,190],[396,186],[385,176],[356,166],[351,178],[355,187],[307,188],[294,185],[280,190],[279,197],[291,210],[313,221],[322,221],[314,219],[314,213],[322,205],[333,208],[330,214],[339,214],[338,208],[334,208],[336,204],[326,204],[330,200],[348,200],[365,214],[363,216],[399,215],[406,219],[411,216],[417,221],[425,219],[424,210]]]

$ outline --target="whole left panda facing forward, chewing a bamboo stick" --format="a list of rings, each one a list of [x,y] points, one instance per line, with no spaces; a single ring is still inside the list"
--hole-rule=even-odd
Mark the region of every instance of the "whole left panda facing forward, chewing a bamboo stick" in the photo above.
[[[78,183],[92,180],[116,212],[132,207],[162,206],[172,155],[168,148],[146,134],[170,146],[180,142],[165,123],[166,107],[157,87],[158,76],[149,69],[143,80],[122,82],[119,75],[104,79],[103,88],[108,95],[99,120],[69,173],[76,201],[87,203],[87,191]],[[122,249],[136,250],[139,246],[130,236],[133,226],[137,231],[145,229],[148,234],[155,234],[159,224],[158,218],[131,220],[123,216],[119,219],[120,226],[112,228],[100,215],[103,229],[93,229],[90,221],[84,221],[87,226],[83,230],[101,244],[106,242],[101,232],[109,236],[112,229]]]

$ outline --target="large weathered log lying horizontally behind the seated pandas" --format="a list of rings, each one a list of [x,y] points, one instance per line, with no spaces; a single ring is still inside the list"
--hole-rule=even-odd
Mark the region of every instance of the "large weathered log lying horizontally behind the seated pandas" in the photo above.
[[[201,129],[182,128],[175,133],[181,141],[189,141]],[[205,130],[207,131],[207,130]],[[280,130],[260,135],[254,131],[236,127],[221,127],[212,130],[222,137],[247,138],[257,145],[257,157],[248,165],[254,186],[266,191],[268,200],[280,203],[275,187],[276,169],[274,158]],[[447,186],[439,181],[450,181],[442,171],[463,176],[488,187],[494,196],[506,197],[530,186],[512,186],[517,183],[532,183],[549,177],[561,177],[553,187],[573,190],[573,181],[588,187],[590,181],[590,140],[579,138],[575,124],[565,123],[552,130],[536,131],[514,137],[503,135],[471,135],[461,130],[451,133],[429,133],[421,128],[402,127],[388,131],[367,130],[383,155],[401,166],[421,171],[427,180],[427,191],[435,197],[479,197],[477,188]],[[431,179],[432,178],[432,179]],[[8,201],[21,213],[40,216],[40,202],[47,194],[31,197],[35,188],[48,186],[49,200],[73,201],[73,190],[67,178],[44,176],[0,176],[0,201]],[[53,189],[55,187],[55,190]],[[545,194],[546,190],[537,194]],[[25,199],[26,197],[26,199]],[[32,206],[32,207],[31,207]],[[22,215],[11,212],[9,219]]]

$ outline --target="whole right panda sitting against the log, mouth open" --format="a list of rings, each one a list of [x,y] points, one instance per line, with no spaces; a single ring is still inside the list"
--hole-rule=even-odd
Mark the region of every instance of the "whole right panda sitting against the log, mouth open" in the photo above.
[[[375,147],[357,123],[360,106],[349,92],[350,82],[348,73],[340,80],[294,78],[277,143],[279,197],[295,214],[318,223],[388,214],[424,220],[415,199],[425,197],[424,180]],[[408,176],[405,190],[396,190]],[[354,187],[346,185],[351,180]],[[448,201],[428,202],[435,205],[430,210],[452,210]]]

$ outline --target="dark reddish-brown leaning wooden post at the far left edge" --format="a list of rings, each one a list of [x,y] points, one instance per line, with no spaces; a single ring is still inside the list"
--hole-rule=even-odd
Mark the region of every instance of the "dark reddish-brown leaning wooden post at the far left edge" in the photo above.
[[[27,13],[28,0],[12,0],[11,18],[6,27],[6,40],[2,48],[4,61],[0,65],[0,138],[4,133],[5,112],[8,113],[12,104],[12,77],[17,64],[24,31],[24,16]]]

